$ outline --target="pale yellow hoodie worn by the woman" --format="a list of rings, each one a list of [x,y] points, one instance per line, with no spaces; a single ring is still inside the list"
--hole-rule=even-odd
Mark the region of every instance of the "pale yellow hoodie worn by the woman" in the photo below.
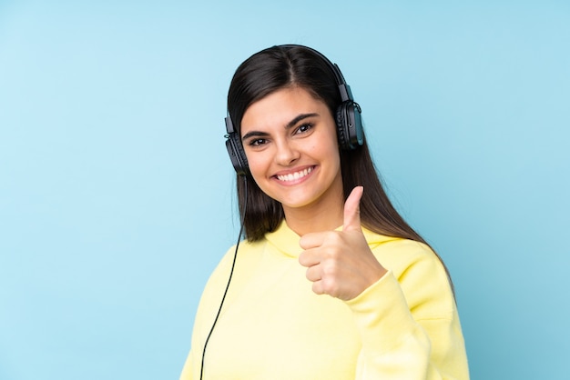
[[[300,236],[285,222],[260,242],[241,243],[203,378],[468,379],[459,316],[439,259],[427,245],[363,232],[388,273],[348,302],[312,292],[298,261]],[[204,289],[180,380],[199,379],[233,254],[229,249]]]

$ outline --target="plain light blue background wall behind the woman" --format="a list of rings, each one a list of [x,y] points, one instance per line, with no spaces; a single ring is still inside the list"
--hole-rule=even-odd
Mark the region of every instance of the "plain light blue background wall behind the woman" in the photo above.
[[[0,379],[178,378],[239,226],[229,80],[287,43],[341,66],[472,377],[567,375],[568,2],[0,0]]]

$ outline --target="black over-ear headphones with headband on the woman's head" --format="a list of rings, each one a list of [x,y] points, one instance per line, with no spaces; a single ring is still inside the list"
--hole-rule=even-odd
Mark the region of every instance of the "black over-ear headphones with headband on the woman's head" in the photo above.
[[[337,107],[336,110],[336,125],[337,125],[337,137],[339,139],[339,145],[342,150],[355,150],[360,145],[364,143],[363,133],[362,133],[362,120],[361,120],[361,106],[354,102],[352,97],[351,87],[347,85],[344,80],[344,76],[341,73],[341,69],[338,65],[333,64],[326,56],[322,55],[315,49],[303,45],[280,45],[277,47],[302,47],[310,50],[316,55],[319,55],[321,59],[331,68],[334,77],[336,78],[336,83],[339,86],[339,93],[341,94],[341,105]],[[243,150],[243,145],[241,144],[241,138],[239,133],[235,130],[233,123],[231,122],[231,117],[228,115],[225,119],[226,121],[226,148],[228,149],[229,159],[231,164],[236,169],[238,175],[249,175],[249,165],[248,159],[246,158],[245,151]]]

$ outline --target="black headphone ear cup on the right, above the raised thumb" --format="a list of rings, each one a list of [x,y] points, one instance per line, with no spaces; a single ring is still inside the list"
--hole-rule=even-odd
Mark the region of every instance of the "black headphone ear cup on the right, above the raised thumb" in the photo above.
[[[360,105],[351,101],[343,102],[337,108],[336,122],[342,149],[354,150],[363,144]]]

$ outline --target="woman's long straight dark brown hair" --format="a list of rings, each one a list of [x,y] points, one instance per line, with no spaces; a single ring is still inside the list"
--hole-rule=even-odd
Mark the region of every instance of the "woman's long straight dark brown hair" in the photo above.
[[[325,59],[312,49],[300,45],[272,46],[246,59],[239,65],[229,85],[228,112],[236,132],[240,134],[241,119],[249,105],[276,91],[294,86],[308,90],[328,106],[331,115],[335,115],[337,107],[341,105],[341,95],[331,63]],[[366,138],[357,149],[340,150],[340,155],[344,199],[355,186],[364,187],[361,224],[377,234],[428,245],[392,205],[373,164]],[[251,242],[258,241],[266,233],[277,229],[285,217],[283,208],[261,191],[251,175],[246,177],[247,185],[244,181],[236,182],[239,214],[244,221],[246,237]],[[249,198],[247,202],[246,196]],[[442,261],[439,255],[438,258]],[[443,267],[449,277],[447,268],[445,265]],[[453,288],[451,278],[450,284]]]

